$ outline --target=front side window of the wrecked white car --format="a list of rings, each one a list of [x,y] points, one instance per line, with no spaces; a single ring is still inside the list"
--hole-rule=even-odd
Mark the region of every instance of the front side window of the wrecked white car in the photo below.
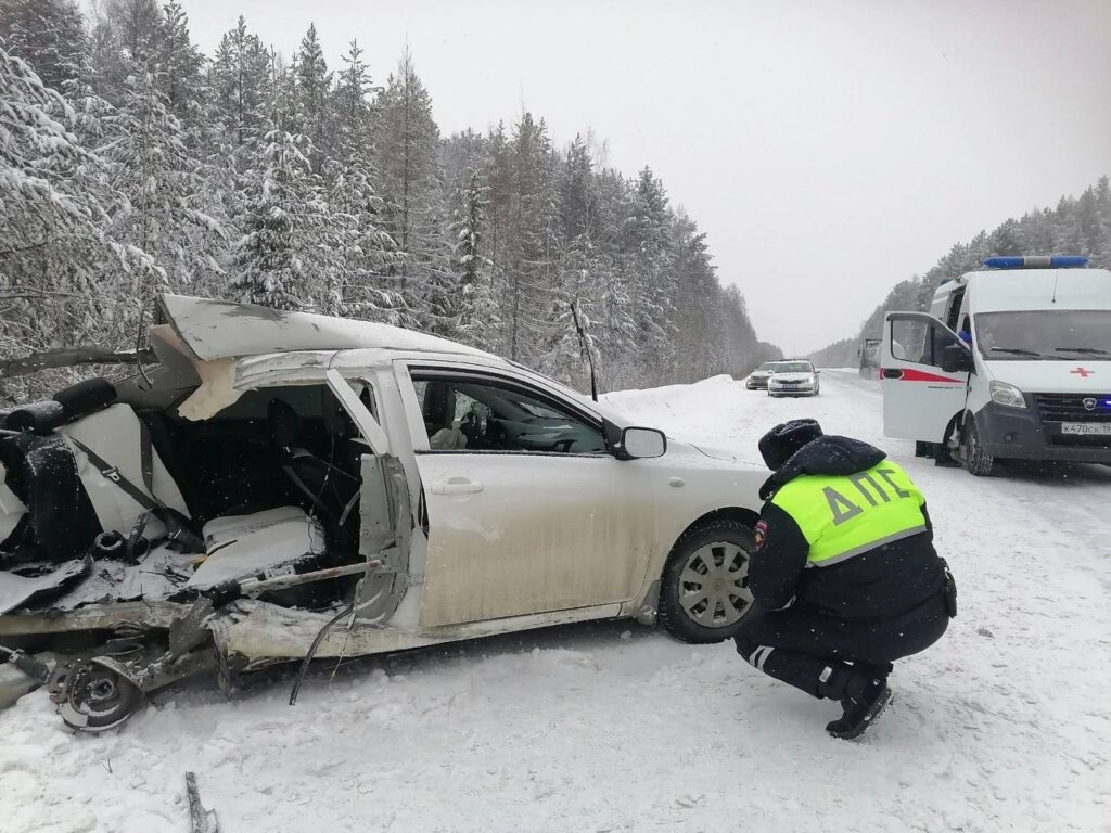
[[[431,452],[604,454],[601,429],[510,383],[413,373]]]

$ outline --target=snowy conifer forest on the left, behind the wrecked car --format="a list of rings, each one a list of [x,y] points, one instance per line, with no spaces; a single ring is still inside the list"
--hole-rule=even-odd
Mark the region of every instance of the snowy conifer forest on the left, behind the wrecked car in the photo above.
[[[0,358],[142,349],[161,292],[414,328],[579,389],[587,350],[602,390],[778,355],[695,220],[589,131],[442,136],[408,48],[336,64],[316,27],[271,44],[241,17],[207,56],[172,0],[90,8],[0,0]]]

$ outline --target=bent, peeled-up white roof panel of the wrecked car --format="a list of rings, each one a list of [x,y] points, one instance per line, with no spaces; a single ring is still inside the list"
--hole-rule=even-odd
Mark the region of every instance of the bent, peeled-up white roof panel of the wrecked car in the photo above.
[[[198,359],[206,361],[297,350],[386,350],[457,353],[493,358],[477,348],[437,335],[371,321],[281,312],[209,298],[163,294],[164,319]]]

